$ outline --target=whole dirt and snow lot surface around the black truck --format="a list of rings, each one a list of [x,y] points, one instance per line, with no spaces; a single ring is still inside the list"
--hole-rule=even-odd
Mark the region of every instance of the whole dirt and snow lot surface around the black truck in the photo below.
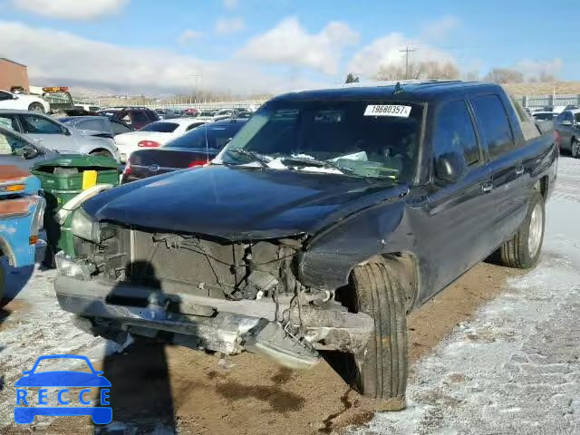
[[[53,271],[11,274],[14,299],[0,312],[0,433],[580,433],[577,186],[580,161],[560,160],[535,270],[478,265],[411,315],[409,406],[396,413],[373,413],[324,363],[289,372],[251,354],[224,362],[173,346],[123,350],[70,326]],[[14,381],[47,353],[98,362],[113,385],[111,425],[14,425]]]

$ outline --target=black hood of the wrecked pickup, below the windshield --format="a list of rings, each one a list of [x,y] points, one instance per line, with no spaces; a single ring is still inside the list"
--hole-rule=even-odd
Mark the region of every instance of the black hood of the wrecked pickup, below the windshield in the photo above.
[[[252,240],[314,234],[406,190],[388,180],[214,165],[110,189],[82,208],[97,220]]]

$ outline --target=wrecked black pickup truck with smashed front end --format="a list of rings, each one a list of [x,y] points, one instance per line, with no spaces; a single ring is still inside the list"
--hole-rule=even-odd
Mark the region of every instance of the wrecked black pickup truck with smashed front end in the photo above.
[[[557,157],[555,132],[495,84],[288,93],[207,168],[82,204],[56,295],[120,342],[324,356],[401,409],[406,315],[489,256],[536,265]]]

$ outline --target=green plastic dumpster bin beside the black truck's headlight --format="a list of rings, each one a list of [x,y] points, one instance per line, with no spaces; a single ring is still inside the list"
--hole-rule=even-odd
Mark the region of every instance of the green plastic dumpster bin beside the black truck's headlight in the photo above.
[[[96,184],[119,184],[121,173],[117,161],[102,156],[66,155],[38,163],[31,171],[41,180],[46,197],[44,228],[53,252],[63,250],[74,256],[72,215],[59,225],[56,214],[70,199]]]

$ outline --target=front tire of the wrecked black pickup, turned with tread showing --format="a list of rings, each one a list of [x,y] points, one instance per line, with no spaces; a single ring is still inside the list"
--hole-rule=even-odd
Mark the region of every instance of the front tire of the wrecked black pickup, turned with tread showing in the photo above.
[[[405,407],[408,369],[401,285],[387,266],[368,263],[355,267],[350,288],[354,293],[351,310],[371,315],[375,333],[360,352],[337,353],[342,355],[340,362],[334,354],[334,368],[363,396],[382,401],[379,409],[400,411]]]

